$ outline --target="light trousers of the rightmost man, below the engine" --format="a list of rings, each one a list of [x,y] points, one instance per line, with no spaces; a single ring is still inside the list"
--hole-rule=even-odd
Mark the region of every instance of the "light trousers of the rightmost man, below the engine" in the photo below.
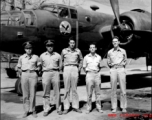
[[[124,68],[111,68],[110,69],[110,78],[111,78],[111,103],[112,109],[117,108],[117,81],[120,85],[120,107],[127,107],[126,99],[126,73]]]

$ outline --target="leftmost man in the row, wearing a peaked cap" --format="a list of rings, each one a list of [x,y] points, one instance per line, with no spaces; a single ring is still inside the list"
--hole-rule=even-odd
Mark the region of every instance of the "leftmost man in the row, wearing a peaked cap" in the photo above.
[[[23,107],[25,113],[24,117],[27,117],[32,112],[33,117],[37,117],[35,111],[35,99],[36,99],[36,87],[38,81],[37,70],[39,67],[39,57],[32,54],[32,43],[25,42],[23,44],[25,54],[20,56],[17,64],[17,70],[21,74],[21,87],[23,91]]]

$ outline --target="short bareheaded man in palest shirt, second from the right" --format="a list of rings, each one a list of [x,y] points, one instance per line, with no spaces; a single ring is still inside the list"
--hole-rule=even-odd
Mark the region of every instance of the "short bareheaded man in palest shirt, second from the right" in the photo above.
[[[101,86],[101,56],[96,53],[96,45],[90,44],[90,53],[84,57],[83,68],[86,72],[86,87],[87,87],[87,111],[90,113],[92,109],[92,93],[93,88],[95,89],[96,97],[96,108],[98,112],[103,112],[101,110],[101,101],[100,101],[100,86]]]

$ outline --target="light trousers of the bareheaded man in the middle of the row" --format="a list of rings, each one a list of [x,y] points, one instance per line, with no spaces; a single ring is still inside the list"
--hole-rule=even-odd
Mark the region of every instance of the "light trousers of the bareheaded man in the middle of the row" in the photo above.
[[[76,66],[65,66],[63,71],[65,95],[64,109],[70,107],[70,91],[72,91],[72,107],[79,108],[79,97],[77,93],[78,68]]]

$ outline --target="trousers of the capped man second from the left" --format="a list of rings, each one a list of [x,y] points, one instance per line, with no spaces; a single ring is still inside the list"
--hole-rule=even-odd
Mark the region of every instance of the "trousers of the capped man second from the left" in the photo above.
[[[60,98],[60,74],[58,71],[43,72],[42,84],[43,84],[43,109],[44,112],[50,110],[50,89],[51,83],[54,90],[54,100],[56,103],[56,109],[60,109],[61,98]]]

